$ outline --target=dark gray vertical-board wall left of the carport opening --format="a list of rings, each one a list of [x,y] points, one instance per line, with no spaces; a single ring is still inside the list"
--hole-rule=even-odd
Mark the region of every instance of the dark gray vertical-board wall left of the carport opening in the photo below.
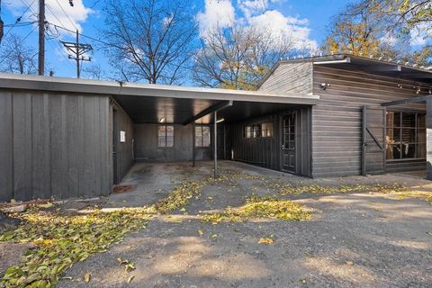
[[[0,202],[108,195],[109,97],[0,91]]]

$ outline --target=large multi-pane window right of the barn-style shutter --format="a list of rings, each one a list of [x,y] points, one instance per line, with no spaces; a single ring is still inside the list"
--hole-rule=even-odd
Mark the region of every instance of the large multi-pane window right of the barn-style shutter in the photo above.
[[[425,113],[387,112],[386,125],[387,159],[426,157]]]

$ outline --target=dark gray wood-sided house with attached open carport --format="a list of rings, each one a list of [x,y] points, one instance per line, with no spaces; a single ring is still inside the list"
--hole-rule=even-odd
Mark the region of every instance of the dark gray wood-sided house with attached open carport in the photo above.
[[[0,201],[107,195],[135,161],[425,170],[431,86],[425,68],[347,55],[281,61],[256,92],[0,74]]]

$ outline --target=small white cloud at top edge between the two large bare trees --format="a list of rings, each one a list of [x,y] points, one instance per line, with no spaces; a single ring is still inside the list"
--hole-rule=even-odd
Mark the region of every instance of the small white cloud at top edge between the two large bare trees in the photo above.
[[[235,9],[230,0],[205,0],[204,12],[196,15],[200,34],[205,35],[211,29],[229,27],[235,21]]]

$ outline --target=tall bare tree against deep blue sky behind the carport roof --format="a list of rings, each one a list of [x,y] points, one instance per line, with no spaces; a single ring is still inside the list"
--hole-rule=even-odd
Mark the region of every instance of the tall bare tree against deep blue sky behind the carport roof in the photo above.
[[[127,81],[180,84],[197,26],[186,0],[107,0],[103,38],[111,64]]]

